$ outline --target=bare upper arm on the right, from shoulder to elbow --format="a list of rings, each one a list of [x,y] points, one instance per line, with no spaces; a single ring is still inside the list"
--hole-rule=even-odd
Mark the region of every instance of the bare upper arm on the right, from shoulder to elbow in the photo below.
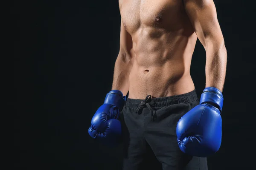
[[[204,47],[207,46],[207,43],[224,45],[213,0],[183,0],[183,2],[186,13],[202,45]]]

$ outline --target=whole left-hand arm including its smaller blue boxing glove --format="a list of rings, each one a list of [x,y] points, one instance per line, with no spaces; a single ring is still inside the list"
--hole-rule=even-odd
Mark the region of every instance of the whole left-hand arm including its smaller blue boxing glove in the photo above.
[[[119,0],[119,7],[121,7],[121,3],[122,0]],[[129,91],[129,75],[134,60],[133,54],[131,35],[125,30],[121,20],[120,50],[115,63],[112,90],[106,95],[104,104],[94,114],[88,129],[92,138],[108,145],[118,144],[122,136],[121,123],[118,117],[125,103],[124,96]]]

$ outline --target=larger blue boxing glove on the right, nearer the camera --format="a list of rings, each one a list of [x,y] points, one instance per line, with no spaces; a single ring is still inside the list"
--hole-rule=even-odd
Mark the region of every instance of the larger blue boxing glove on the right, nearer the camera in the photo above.
[[[207,157],[221,146],[221,109],[223,96],[217,88],[207,87],[200,105],[182,116],[177,123],[177,141],[184,153]]]

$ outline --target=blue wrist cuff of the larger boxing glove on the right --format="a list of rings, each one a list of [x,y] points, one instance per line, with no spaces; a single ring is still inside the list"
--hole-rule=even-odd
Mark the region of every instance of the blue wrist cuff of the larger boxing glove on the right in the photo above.
[[[223,106],[223,96],[221,91],[214,87],[205,88],[200,98],[200,104],[204,103],[212,104],[215,107],[217,106],[217,108],[221,111]]]

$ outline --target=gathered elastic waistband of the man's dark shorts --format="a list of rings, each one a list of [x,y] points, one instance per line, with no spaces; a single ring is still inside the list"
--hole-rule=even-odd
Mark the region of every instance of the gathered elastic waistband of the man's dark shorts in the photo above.
[[[167,96],[167,97],[157,97],[151,98],[147,101],[152,107],[164,107],[179,103],[189,103],[198,99],[196,91],[193,90],[186,94]],[[128,108],[136,108],[140,103],[146,102],[145,99],[130,99],[128,98],[125,102],[125,106]]]

